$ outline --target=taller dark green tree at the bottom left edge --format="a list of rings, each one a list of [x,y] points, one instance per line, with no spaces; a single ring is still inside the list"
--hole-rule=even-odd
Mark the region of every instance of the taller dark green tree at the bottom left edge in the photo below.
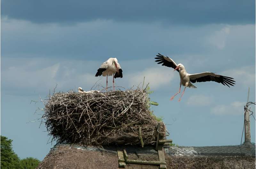
[[[1,136],[1,168],[15,169],[20,168],[20,159],[12,150],[12,140]]]

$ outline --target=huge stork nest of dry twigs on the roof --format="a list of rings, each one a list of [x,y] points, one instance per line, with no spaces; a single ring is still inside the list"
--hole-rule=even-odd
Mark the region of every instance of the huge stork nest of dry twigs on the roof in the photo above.
[[[59,92],[45,100],[45,126],[52,141],[86,145],[156,142],[158,121],[149,110],[146,90]],[[161,123],[160,139],[165,137]]]

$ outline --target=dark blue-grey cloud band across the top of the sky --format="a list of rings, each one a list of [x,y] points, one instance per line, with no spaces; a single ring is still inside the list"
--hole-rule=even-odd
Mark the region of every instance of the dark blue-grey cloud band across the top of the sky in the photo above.
[[[164,21],[175,24],[255,23],[254,0],[1,0],[1,15],[34,23],[74,23],[95,19]]]

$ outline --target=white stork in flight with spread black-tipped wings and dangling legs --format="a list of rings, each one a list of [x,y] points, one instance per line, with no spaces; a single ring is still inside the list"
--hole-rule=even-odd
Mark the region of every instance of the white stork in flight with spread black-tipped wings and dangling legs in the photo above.
[[[185,86],[184,91],[182,92],[179,101],[181,100],[181,97],[183,96],[186,87],[192,87],[192,88],[196,88],[196,86],[192,85],[192,83],[196,83],[196,82],[207,82],[207,81],[214,81],[214,82],[218,82],[221,83],[222,85],[227,85],[229,87],[229,85],[234,86],[236,81],[232,80],[234,78],[232,77],[227,77],[227,76],[221,76],[221,75],[217,75],[215,73],[211,73],[211,72],[203,72],[203,73],[197,73],[197,74],[189,74],[187,73],[185,67],[179,63],[178,65],[169,57],[161,55],[158,53],[158,55],[156,55],[157,57],[155,57],[156,62],[158,62],[157,64],[162,64],[162,66],[167,66],[167,67],[171,67],[175,70],[177,70],[180,74],[180,87],[181,85]],[[174,97],[180,93],[177,92],[174,96],[171,97],[170,100],[173,100]]]

